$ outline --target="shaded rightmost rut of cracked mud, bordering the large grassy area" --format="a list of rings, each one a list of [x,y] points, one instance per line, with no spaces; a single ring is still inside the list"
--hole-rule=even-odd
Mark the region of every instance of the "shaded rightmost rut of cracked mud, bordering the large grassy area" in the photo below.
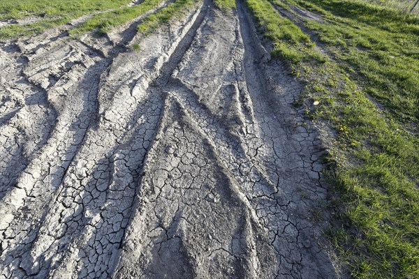
[[[263,131],[263,142],[272,149],[267,155],[274,157],[270,164],[276,166],[275,172],[279,174],[279,193],[285,194],[277,203],[276,216],[265,216],[268,213],[266,210],[258,211],[258,216],[265,219],[263,223],[270,224],[267,227],[274,232],[270,239],[280,262],[277,277],[336,278],[331,260],[322,251],[322,243],[316,241],[327,223],[314,223],[309,218],[311,209],[316,208],[319,201],[326,200],[326,192],[318,174],[323,167],[311,159],[311,154],[321,152],[321,149],[316,149],[320,145],[316,139],[318,136],[315,131],[298,124],[302,123],[302,112],[297,112],[292,105],[302,89],[287,75],[287,69],[281,63],[253,63],[254,53],[259,47],[255,45],[254,37],[250,36],[252,22],[247,20],[249,16],[245,13],[240,4],[238,14],[244,42],[243,65],[247,89],[256,112],[256,123]],[[272,73],[276,73],[275,78]],[[265,80],[266,85],[258,83],[260,80]],[[304,200],[295,195],[296,191],[314,193]],[[265,199],[253,199],[253,202],[258,204],[258,208],[264,206],[266,209]]]

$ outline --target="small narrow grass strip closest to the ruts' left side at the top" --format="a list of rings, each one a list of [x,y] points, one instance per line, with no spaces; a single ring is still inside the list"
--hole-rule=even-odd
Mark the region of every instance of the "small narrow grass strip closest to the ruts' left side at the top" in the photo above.
[[[193,0],[176,0],[173,3],[170,3],[167,7],[159,10],[159,12],[154,13],[147,17],[137,29],[143,34],[147,34],[154,29],[160,27],[163,24],[169,22],[174,17],[180,17],[186,13],[188,8],[195,5],[197,1]]]

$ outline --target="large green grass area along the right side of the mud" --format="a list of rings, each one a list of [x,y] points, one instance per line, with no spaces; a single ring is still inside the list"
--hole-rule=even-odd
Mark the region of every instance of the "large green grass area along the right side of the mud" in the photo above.
[[[266,0],[246,3],[274,46],[304,50],[299,59],[272,54],[306,84],[297,105],[337,131],[325,175],[341,225],[328,235],[347,271],[353,278],[419,278],[419,140],[411,131],[418,123],[417,18],[358,1],[284,1],[323,17],[305,23],[327,53],[320,63],[309,41],[289,42],[302,38],[295,25],[286,29],[291,35],[277,35],[285,19]]]

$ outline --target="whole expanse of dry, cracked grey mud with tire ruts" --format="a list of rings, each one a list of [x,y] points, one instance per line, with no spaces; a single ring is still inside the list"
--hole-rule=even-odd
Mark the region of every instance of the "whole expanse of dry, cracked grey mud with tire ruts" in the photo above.
[[[240,1],[68,28],[1,44],[1,278],[337,278],[302,85]]]

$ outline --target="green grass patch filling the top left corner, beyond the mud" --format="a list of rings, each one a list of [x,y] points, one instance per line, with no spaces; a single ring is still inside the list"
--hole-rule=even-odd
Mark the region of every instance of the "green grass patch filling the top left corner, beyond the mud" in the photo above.
[[[129,0],[97,0],[97,1],[46,1],[20,0],[0,1],[0,19],[22,20],[27,17],[39,17],[38,22],[29,24],[13,24],[0,28],[0,40],[29,36],[41,33],[45,29],[66,24],[82,15],[96,11],[119,8]]]

